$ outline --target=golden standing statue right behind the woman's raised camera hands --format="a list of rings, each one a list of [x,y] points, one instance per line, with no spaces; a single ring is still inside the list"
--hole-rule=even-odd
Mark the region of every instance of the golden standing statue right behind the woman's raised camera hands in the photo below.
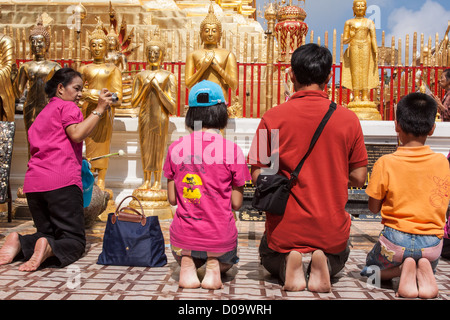
[[[118,99],[113,102],[110,110],[100,115],[101,120],[99,124],[92,131],[91,135],[85,139],[86,158],[88,159],[106,155],[110,152],[114,111],[115,107],[120,105],[122,100],[122,73],[114,64],[105,61],[107,41],[100,19],[98,19],[94,32],[89,35],[89,50],[94,61],[91,64],[82,66],[79,70],[85,83],[82,96],[83,116],[85,118],[88,117],[96,108],[100,90],[103,88],[116,93]],[[101,190],[105,190],[105,176],[108,170],[108,163],[109,158],[102,158],[91,163],[91,170],[98,172],[97,185]]]

